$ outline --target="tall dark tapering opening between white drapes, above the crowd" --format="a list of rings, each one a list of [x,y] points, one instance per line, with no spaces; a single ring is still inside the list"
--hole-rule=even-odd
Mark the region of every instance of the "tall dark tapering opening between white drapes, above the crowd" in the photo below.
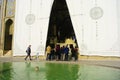
[[[75,39],[76,37],[66,0],[54,0],[50,14],[47,44],[64,43],[67,38]]]

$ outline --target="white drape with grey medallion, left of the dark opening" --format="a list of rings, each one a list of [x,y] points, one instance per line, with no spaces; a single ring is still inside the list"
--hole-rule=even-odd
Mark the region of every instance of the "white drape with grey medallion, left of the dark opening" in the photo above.
[[[50,10],[53,0],[16,0],[13,55],[44,54]]]

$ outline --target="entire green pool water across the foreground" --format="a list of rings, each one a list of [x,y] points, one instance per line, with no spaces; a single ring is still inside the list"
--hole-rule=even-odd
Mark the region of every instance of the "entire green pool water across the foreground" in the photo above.
[[[49,62],[0,62],[0,80],[120,80],[120,69]]]

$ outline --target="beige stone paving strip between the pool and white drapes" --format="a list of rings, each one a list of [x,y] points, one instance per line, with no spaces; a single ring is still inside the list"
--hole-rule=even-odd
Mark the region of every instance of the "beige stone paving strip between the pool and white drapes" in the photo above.
[[[24,60],[24,56],[22,57],[0,57],[0,62],[26,62],[30,61]],[[112,67],[120,69],[120,59],[91,59],[91,58],[81,58],[78,61],[46,61],[45,57],[40,57],[39,59],[36,59],[35,57],[32,57],[32,61],[30,62],[53,62],[53,63],[72,63],[72,64],[89,64],[89,65],[97,65],[97,66],[104,66],[104,67]]]

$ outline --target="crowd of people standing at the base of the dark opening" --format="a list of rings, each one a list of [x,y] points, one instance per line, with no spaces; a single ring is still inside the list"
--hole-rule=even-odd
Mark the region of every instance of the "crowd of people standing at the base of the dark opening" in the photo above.
[[[50,45],[46,48],[46,60],[78,60],[78,48],[73,45],[56,45],[52,48]]]

